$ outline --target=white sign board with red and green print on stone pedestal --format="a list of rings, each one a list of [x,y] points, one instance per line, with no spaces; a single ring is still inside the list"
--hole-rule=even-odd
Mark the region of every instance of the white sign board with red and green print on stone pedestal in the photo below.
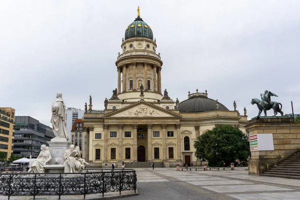
[[[250,151],[274,150],[273,134],[252,134],[249,136]]]

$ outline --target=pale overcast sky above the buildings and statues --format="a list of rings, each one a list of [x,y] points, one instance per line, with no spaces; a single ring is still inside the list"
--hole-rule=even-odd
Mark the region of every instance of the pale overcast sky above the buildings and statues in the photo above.
[[[162,89],[179,101],[208,97],[254,117],[265,89],[300,113],[299,0],[1,0],[0,107],[50,125],[57,91],[67,107],[103,109],[117,86],[115,60],[129,23],[151,26]],[[272,114],[272,110],[267,112]]]

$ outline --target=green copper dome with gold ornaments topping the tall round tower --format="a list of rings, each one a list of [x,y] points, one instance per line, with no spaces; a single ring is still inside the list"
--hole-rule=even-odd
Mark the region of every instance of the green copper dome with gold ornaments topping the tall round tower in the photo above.
[[[130,23],[125,31],[125,40],[131,37],[146,37],[153,40],[153,32],[142,18],[137,16],[135,20]]]

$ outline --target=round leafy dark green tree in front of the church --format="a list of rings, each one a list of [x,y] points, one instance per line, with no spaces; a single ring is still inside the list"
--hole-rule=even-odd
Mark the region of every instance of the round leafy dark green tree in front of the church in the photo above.
[[[242,139],[245,134],[232,125],[218,125],[194,141],[195,156],[207,160],[210,166],[223,166],[223,162],[247,160],[249,143]]]

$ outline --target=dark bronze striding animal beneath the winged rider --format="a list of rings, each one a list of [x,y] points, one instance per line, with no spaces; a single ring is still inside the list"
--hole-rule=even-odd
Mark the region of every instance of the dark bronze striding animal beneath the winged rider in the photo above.
[[[260,116],[260,113],[264,112],[264,116],[266,116],[266,110],[269,110],[271,108],[273,108],[274,110],[274,115],[273,116],[276,116],[276,114],[278,112],[280,112],[281,116],[283,116],[283,112],[281,111],[281,108],[282,108],[282,104],[281,103],[278,103],[276,101],[270,101],[270,103],[266,102],[266,101],[262,101],[262,100],[259,100],[258,98],[252,98],[251,100],[251,103],[252,105],[255,103],[259,109],[258,111],[258,117]],[[279,108],[279,105],[281,106]]]

